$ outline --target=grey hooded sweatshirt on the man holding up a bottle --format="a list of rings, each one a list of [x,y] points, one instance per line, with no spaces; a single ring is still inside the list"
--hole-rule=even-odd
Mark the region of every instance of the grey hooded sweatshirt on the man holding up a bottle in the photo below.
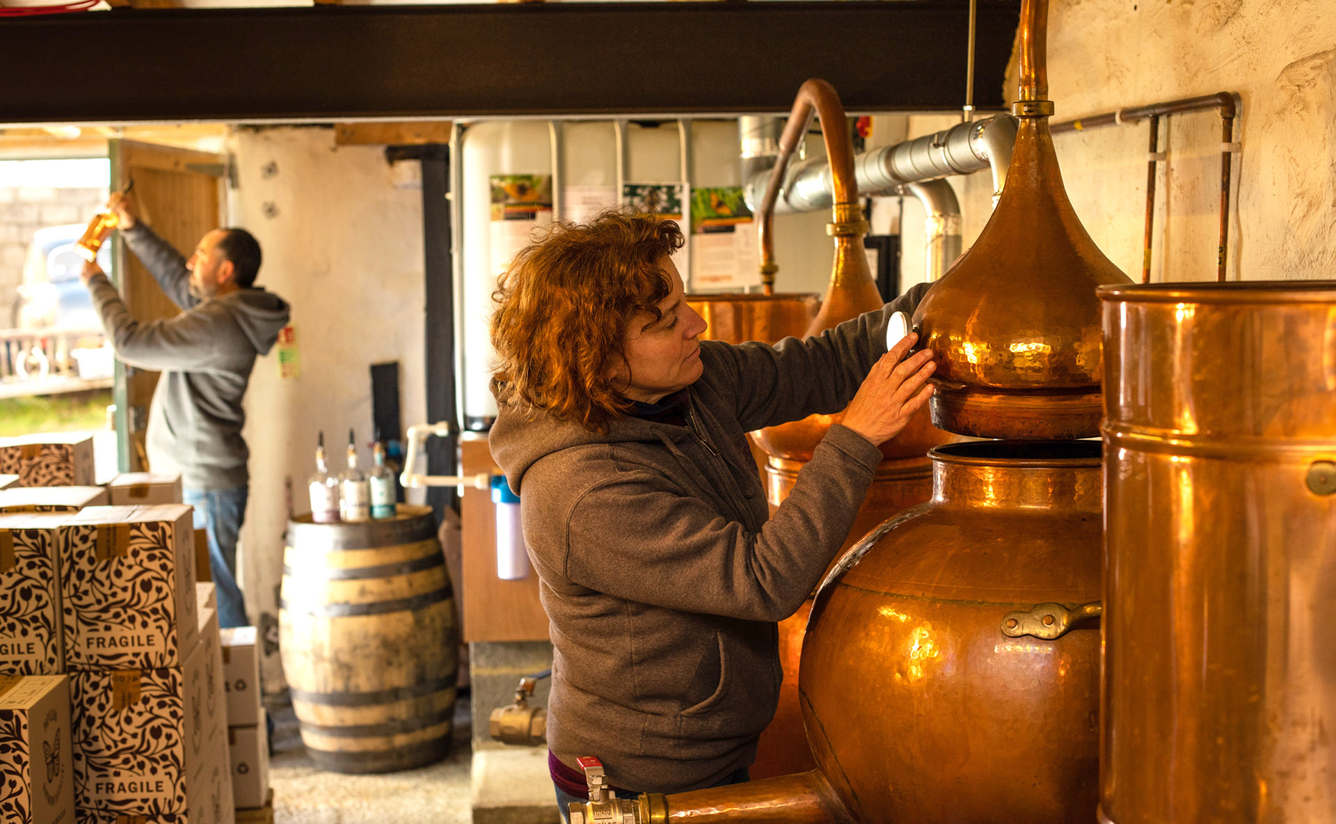
[[[186,259],[142,220],[120,236],[183,310],[143,323],[106,276],[88,282],[116,358],[162,373],[148,410],[148,462],[154,471],[179,471],[188,489],[246,486],[242,398],[255,357],[287,325],[287,303],[263,288],[200,300],[190,294]]]

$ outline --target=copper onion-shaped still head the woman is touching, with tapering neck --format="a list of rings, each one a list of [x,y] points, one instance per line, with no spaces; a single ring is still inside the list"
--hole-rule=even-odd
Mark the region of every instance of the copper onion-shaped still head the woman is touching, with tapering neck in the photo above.
[[[914,314],[937,353],[933,422],[965,435],[1098,435],[1096,287],[1132,282],[1086,234],[1062,187],[1045,99],[1047,7],[1022,5],[1019,127],[1002,199]]]

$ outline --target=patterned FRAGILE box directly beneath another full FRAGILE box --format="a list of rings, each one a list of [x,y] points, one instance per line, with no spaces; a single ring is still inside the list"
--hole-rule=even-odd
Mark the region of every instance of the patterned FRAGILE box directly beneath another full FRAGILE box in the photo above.
[[[188,811],[190,784],[216,749],[207,741],[206,658],[196,644],[182,666],[69,673],[79,808]]]

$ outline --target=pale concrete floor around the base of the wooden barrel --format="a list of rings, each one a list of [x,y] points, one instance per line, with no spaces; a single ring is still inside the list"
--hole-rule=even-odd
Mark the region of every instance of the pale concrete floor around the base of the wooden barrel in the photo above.
[[[274,824],[470,824],[469,698],[454,708],[450,757],[407,772],[346,776],[321,772],[302,745],[293,708],[274,716]]]

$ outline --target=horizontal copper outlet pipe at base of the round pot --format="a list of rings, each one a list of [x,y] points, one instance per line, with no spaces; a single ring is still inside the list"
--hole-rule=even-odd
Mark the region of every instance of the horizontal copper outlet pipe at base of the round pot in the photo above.
[[[816,772],[731,784],[671,796],[640,796],[647,824],[745,821],[747,824],[844,824],[852,817]]]

